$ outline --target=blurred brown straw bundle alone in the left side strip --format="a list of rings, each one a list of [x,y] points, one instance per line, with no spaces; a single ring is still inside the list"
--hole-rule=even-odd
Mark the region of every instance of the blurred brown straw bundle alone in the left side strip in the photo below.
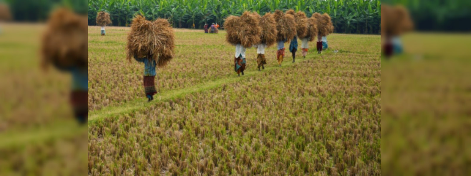
[[[88,21],[72,11],[60,8],[49,17],[42,38],[42,66],[87,68]]]

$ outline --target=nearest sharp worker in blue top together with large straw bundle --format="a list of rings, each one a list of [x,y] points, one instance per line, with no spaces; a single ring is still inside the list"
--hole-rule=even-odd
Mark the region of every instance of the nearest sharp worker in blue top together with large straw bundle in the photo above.
[[[144,63],[144,92],[147,100],[152,101],[155,88],[156,67],[164,67],[173,58],[175,35],[166,19],[158,18],[154,22],[137,15],[131,23],[128,35],[127,60],[131,58]]]

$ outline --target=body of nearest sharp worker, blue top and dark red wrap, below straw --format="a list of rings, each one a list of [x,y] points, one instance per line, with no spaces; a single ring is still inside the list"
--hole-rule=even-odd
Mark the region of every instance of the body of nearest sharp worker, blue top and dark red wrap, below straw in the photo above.
[[[157,62],[150,58],[153,58],[153,56],[138,58],[138,56],[134,55],[136,61],[144,63],[144,91],[148,101],[154,100],[154,95],[157,93],[157,89],[155,89],[155,75],[157,75],[155,67]]]

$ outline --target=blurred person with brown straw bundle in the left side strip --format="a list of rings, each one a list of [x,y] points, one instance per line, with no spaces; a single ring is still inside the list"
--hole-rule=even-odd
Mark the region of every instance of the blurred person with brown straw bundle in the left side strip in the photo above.
[[[86,16],[59,8],[51,14],[41,43],[43,69],[52,65],[72,74],[70,104],[81,124],[85,124],[88,117],[87,31]]]

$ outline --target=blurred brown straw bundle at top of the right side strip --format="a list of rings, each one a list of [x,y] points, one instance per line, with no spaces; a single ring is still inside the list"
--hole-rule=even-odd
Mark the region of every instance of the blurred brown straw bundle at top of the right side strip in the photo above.
[[[397,36],[413,29],[409,12],[403,6],[381,6],[381,35]]]

